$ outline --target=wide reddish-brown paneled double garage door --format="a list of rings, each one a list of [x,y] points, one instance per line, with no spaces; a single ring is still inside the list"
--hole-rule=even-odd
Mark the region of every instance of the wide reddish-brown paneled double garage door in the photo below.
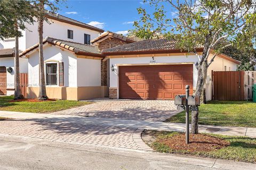
[[[187,84],[193,89],[192,64],[119,66],[119,98],[173,100]]]

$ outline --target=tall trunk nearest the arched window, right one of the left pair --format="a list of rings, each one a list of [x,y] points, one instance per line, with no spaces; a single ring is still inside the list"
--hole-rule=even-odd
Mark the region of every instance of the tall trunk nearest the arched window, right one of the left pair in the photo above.
[[[40,8],[42,11],[42,16],[38,18],[38,39],[39,39],[39,100],[47,100],[45,88],[45,77],[44,77],[44,55],[43,55],[43,12],[44,12],[44,3],[40,2]]]

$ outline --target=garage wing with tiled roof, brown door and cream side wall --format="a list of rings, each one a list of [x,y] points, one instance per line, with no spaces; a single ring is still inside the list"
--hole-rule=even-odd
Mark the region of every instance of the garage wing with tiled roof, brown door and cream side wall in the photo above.
[[[203,49],[197,52],[202,55]],[[188,84],[196,89],[196,63],[201,58],[175,48],[174,40],[142,40],[110,49],[102,53],[110,65],[110,98],[174,99],[185,93]],[[214,52],[211,50],[209,61]],[[218,54],[209,66],[206,79],[206,100],[212,99],[212,71],[236,71],[240,62]]]

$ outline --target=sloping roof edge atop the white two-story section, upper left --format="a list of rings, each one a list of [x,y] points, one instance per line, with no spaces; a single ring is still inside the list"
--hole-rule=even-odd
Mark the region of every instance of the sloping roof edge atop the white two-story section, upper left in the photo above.
[[[46,18],[57,20],[57,21],[60,21],[60,22],[69,23],[69,24],[72,24],[72,25],[76,25],[78,27],[83,27],[83,28],[87,28],[87,29],[90,29],[90,30],[98,31],[98,32],[104,32],[104,30],[99,29],[97,27],[93,27],[92,25],[89,25],[89,24],[86,24],[86,23],[68,18],[68,17],[60,15],[60,14],[56,14],[56,13],[51,12],[51,11],[46,11]]]

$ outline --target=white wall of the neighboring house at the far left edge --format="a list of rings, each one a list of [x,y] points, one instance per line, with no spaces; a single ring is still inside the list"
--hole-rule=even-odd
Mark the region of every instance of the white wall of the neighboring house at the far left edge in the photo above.
[[[28,59],[20,58],[20,73],[28,73]],[[7,94],[14,95],[14,57],[0,58],[0,66],[12,67],[12,73],[6,71]]]

